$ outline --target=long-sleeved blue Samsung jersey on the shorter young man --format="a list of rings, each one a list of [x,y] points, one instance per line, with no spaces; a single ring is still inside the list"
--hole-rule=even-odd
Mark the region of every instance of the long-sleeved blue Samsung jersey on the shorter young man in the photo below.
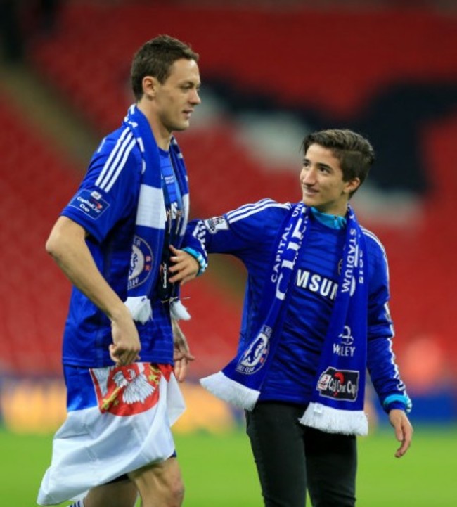
[[[188,226],[193,248],[229,253],[247,268],[247,285],[240,329],[240,349],[252,339],[262,293],[271,267],[278,231],[290,204],[265,199],[223,217],[194,221]],[[295,280],[276,354],[259,400],[307,404],[315,385],[318,361],[337,293],[345,230],[333,229],[310,214],[310,231],[297,259]],[[368,255],[367,366],[383,402],[404,394],[392,352],[393,327],[388,307],[389,281],[385,250],[373,233],[362,229]],[[349,345],[340,354],[351,354]]]

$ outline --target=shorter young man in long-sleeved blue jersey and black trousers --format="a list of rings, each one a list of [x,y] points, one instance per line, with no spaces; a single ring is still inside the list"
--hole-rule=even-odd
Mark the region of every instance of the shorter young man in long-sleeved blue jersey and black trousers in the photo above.
[[[265,506],[354,506],[366,368],[403,456],[411,402],[392,352],[387,257],[349,199],[375,159],[348,130],[303,142],[302,201],[266,198],[188,226],[202,255],[247,268],[236,358],[201,383],[246,410]]]

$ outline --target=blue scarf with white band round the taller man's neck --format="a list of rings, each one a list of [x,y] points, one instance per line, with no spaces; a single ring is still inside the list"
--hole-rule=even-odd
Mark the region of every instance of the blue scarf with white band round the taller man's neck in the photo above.
[[[127,117],[124,119],[124,126],[129,128],[134,135],[143,159],[125,304],[135,321],[145,323],[153,317],[150,297],[153,295],[160,272],[162,252],[164,248],[169,247],[164,244],[167,210],[157,143],[146,116],[136,105],[131,105],[129,108]],[[188,180],[184,159],[174,138],[172,138],[169,151],[184,205],[184,219],[178,231],[179,243],[181,243],[188,221]],[[175,246],[179,247],[179,245]],[[170,302],[170,311],[175,319],[189,318],[186,309],[179,301],[179,293]]]

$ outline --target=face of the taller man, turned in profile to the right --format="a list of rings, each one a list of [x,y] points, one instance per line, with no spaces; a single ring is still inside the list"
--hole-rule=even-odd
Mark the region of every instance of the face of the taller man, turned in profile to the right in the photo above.
[[[200,104],[200,74],[195,60],[176,60],[164,83],[157,83],[155,113],[162,131],[186,130],[195,105]]]

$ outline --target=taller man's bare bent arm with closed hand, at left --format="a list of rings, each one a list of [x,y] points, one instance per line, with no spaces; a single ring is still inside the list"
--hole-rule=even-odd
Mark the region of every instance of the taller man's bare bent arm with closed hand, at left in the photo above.
[[[86,231],[67,217],[59,217],[46,241],[46,251],[67,278],[111,321],[110,357],[117,365],[139,359],[138,331],[129,310],[105,281],[86,245]]]

